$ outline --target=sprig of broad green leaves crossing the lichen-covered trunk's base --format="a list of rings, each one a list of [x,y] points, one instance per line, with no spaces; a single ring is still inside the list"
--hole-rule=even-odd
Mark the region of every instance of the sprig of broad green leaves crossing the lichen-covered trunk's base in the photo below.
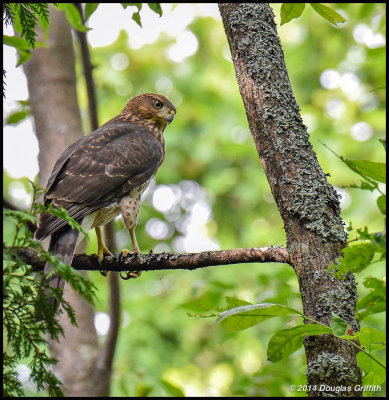
[[[375,283],[373,283],[375,285]],[[219,322],[227,332],[236,332],[257,325],[263,321],[281,316],[299,316],[310,323],[277,330],[267,346],[267,358],[278,362],[303,347],[305,336],[332,334],[348,341],[360,351],[357,361],[365,373],[364,384],[380,385],[385,381],[384,362],[373,351],[386,348],[385,334],[371,327],[363,327],[354,333],[347,322],[336,314],[332,315],[330,326],[305,316],[301,311],[281,304],[251,304],[237,298],[226,297],[227,307],[220,312]]]

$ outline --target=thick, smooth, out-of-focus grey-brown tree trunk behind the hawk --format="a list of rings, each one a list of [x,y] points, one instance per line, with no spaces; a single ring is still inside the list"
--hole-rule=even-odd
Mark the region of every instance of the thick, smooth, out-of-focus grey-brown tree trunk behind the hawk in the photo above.
[[[54,163],[75,140],[82,137],[76,92],[75,58],[70,25],[63,12],[50,7],[47,48],[36,48],[24,64],[31,111],[39,140],[39,184],[46,186]],[[38,32],[42,39],[42,32]],[[55,372],[64,383],[66,396],[108,396],[112,356],[102,351],[94,326],[93,307],[65,287],[64,296],[76,312],[78,328],[66,314],[60,316],[64,337],[51,342],[52,355],[59,360]],[[115,339],[116,342],[116,339]]]

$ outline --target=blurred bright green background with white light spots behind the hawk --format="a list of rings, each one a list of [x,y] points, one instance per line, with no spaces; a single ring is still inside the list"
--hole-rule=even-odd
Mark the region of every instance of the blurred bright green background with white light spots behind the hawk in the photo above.
[[[177,10],[186,6],[164,8],[164,16],[176,12],[178,18]],[[177,108],[165,131],[164,164],[144,196],[136,230],[139,246],[142,252],[183,252],[285,245],[282,220],[248,130],[222,22],[201,16],[196,5],[191,7],[194,16],[183,32],[192,40],[192,48],[196,47],[193,40],[198,47],[190,56],[174,61],[174,46],[182,34],[175,38],[164,32],[152,43],[131,47],[128,34],[121,31],[114,43],[92,49],[101,124],[116,115],[128,98],[143,92],[164,94]],[[311,143],[322,169],[330,174],[329,182],[342,194],[343,219],[347,225],[352,222],[354,227],[368,226],[370,232],[381,231],[379,194],[341,189],[359,178],[320,141],[349,159],[385,159],[378,139],[385,136],[386,121],[386,90],[382,89],[386,6],[333,3],[331,7],[347,19],[341,28],[331,26],[308,5],[302,17],[280,27],[281,5],[272,7]],[[128,23],[134,24],[130,18]],[[89,133],[79,61],[77,74]],[[15,179],[5,171],[3,177],[7,199],[16,203],[12,187],[20,190],[23,185],[27,194],[31,192],[26,178]],[[120,219],[115,224],[117,251],[129,246],[130,236]],[[4,229],[11,234],[11,226]],[[87,252],[96,249],[92,232]],[[385,276],[384,263],[371,265],[357,276],[358,282],[369,275]],[[98,272],[89,276],[98,287],[96,324],[103,340],[108,285]],[[275,330],[300,321],[275,318],[227,334],[215,318],[187,315],[215,311],[225,305],[225,296],[302,309],[290,266],[246,264],[145,272],[120,284],[123,314],[112,396],[165,396],[180,391],[187,396],[305,395],[288,390],[289,385],[306,383],[303,350],[278,364],[266,361],[267,342]],[[362,285],[358,289],[365,294]],[[366,318],[363,325],[384,330],[383,313]]]

